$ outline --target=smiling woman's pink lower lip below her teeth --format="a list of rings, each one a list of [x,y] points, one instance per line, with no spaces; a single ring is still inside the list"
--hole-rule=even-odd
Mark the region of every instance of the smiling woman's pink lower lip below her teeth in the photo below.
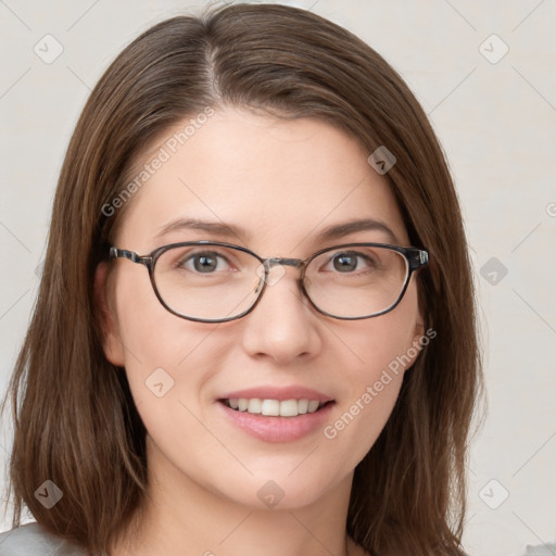
[[[293,442],[323,427],[323,421],[332,409],[328,403],[318,412],[298,415],[296,417],[270,417],[267,415],[237,412],[222,402],[217,404],[226,417],[247,433],[265,442]]]

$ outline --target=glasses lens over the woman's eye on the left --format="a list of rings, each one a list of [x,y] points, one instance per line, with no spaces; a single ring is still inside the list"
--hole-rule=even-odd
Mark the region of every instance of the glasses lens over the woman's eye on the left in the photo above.
[[[255,302],[260,267],[257,258],[237,249],[184,245],[160,255],[154,282],[172,311],[192,318],[226,319]]]

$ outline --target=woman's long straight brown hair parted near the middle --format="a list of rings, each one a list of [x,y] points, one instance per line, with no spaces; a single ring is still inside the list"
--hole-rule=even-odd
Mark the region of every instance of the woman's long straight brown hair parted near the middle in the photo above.
[[[164,21],[125,48],[92,91],[61,170],[40,291],[10,383],[13,527],[25,504],[46,530],[108,551],[144,502],[146,429],[94,318],[94,269],[123,214],[103,207],[161,134],[223,105],[320,118],[369,154],[386,146],[396,156],[386,177],[410,244],[430,254],[418,291],[437,337],[355,469],[348,533],[374,555],[463,554],[465,462],[482,375],[470,262],[442,149],[377,52],[314,13],[278,4]],[[64,493],[51,509],[34,495],[47,479]]]

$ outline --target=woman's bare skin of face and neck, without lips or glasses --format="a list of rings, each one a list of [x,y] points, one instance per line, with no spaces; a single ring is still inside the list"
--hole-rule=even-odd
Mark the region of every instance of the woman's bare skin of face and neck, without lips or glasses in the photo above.
[[[305,258],[351,241],[391,242],[377,230],[326,244],[316,239],[331,224],[372,217],[408,245],[396,202],[368,154],[317,119],[223,109],[136,193],[114,244],[144,255],[172,242],[212,239],[262,256]],[[252,236],[175,230],[154,238],[177,217],[237,224]],[[111,556],[364,554],[345,533],[353,471],[384,427],[403,371],[332,440],[318,428],[293,442],[264,442],[224,419],[216,400],[253,386],[301,384],[334,399],[326,425],[333,424],[422,334],[416,281],[390,313],[350,321],[315,311],[298,288],[298,270],[285,270],[252,313],[206,324],[167,312],[142,265],[99,265],[105,355],[125,367],[148,429],[149,502],[138,532]],[[162,397],[146,387],[160,367],[174,379]],[[283,491],[274,509],[257,497],[268,480]]]

